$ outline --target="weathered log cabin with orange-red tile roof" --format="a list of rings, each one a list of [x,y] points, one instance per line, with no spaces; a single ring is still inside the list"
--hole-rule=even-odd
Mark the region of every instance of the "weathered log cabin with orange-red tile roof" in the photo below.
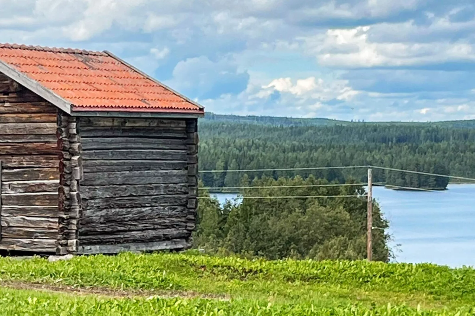
[[[0,251],[188,248],[203,115],[108,51],[0,44]]]

